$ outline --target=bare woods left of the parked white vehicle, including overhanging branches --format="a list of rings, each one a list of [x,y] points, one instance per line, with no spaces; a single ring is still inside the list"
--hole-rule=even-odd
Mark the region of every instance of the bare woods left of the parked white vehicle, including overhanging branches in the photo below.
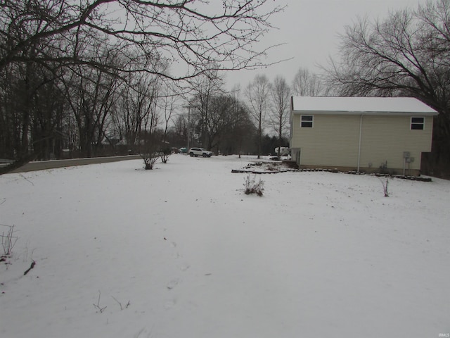
[[[0,158],[96,156],[165,142],[206,72],[262,65],[269,0],[0,2]],[[158,134],[158,137],[156,137]],[[117,147],[116,147],[117,148]]]

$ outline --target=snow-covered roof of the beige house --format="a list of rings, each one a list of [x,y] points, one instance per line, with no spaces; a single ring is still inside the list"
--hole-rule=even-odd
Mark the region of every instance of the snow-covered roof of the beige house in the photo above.
[[[435,109],[412,97],[293,96],[293,113],[354,115],[437,115]]]

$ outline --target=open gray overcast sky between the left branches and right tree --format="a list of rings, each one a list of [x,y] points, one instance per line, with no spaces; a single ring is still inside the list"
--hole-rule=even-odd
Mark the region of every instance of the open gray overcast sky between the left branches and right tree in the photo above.
[[[279,0],[276,0],[279,1]],[[282,2],[282,1],[280,1]],[[293,80],[298,68],[319,73],[317,64],[325,65],[328,56],[338,49],[339,33],[352,25],[358,16],[383,19],[390,10],[417,8],[425,0],[285,0],[288,8],[272,18],[278,30],[269,32],[262,44],[285,43],[270,52],[267,61],[293,58],[278,65],[259,70],[226,73],[227,87],[240,84],[243,89],[257,74],[266,74],[269,80],[282,75]]]

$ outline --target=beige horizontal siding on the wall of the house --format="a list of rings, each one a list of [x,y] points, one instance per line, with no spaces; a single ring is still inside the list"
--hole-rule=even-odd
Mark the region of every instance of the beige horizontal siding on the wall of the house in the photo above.
[[[312,128],[302,128],[300,114],[296,113],[290,146],[301,149],[302,165],[356,169],[360,121],[360,115],[319,114],[314,115]],[[425,118],[425,130],[411,130],[410,125],[411,116],[364,115],[360,169],[379,168],[387,161],[388,169],[403,170],[404,151],[414,158],[406,168],[420,169],[420,154],[431,150],[432,117]]]

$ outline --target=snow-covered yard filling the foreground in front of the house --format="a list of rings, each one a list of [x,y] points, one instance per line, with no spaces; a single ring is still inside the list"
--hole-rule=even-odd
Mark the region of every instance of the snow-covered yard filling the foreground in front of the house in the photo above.
[[[248,196],[231,170],[253,161],[0,176],[0,223],[19,237],[0,263],[0,337],[450,332],[449,181],[392,179],[384,197],[378,177],[286,172]]]

